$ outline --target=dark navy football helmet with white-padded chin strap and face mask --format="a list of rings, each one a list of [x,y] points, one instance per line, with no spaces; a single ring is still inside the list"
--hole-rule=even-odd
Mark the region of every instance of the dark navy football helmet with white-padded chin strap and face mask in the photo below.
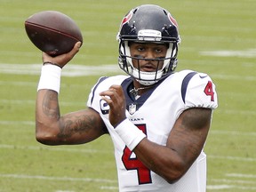
[[[158,5],[143,4],[128,12],[121,22],[116,39],[119,41],[119,67],[140,84],[156,84],[162,76],[172,73],[177,66],[178,45],[181,41],[178,24],[170,12]],[[167,44],[165,58],[153,59],[157,60],[158,65],[164,62],[163,68],[154,72],[140,71],[140,60],[148,59],[132,57],[129,42]],[[132,60],[137,60],[138,68],[133,66]]]

